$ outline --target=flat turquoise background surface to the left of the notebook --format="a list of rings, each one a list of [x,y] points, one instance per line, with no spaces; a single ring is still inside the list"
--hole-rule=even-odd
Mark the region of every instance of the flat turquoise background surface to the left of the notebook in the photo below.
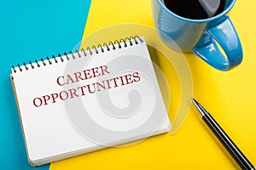
[[[15,97],[9,79],[11,66],[72,50],[81,41],[89,8],[89,0],[1,1],[1,170],[49,169],[49,165],[31,167],[27,161]]]

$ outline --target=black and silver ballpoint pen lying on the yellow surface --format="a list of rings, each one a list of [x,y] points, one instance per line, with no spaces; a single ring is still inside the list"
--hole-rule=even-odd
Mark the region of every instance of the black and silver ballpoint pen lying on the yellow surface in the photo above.
[[[204,122],[206,122],[207,126],[211,128],[212,132],[217,136],[219,141],[224,144],[224,147],[229,151],[230,155],[236,160],[238,165],[245,170],[255,170],[253,164],[248,161],[246,156],[242,154],[241,150],[238,149],[236,144],[234,144],[230,137],[218,125],[218,122],[216,122],[213,117],[195,99],[192,98],[192,102],[200,112]]]

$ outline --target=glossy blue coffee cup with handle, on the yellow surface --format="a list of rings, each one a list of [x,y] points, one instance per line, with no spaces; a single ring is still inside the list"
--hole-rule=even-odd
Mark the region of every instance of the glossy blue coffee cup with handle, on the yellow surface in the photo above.
[[[154,25],[168,47],[183,53],[193,52],[212,67],[228,71],[242,60],[241,42],[228,15],[235,3],[236,0],[226,0],[220,14],[192,20],[174,14],[163,0],[152,0]]]

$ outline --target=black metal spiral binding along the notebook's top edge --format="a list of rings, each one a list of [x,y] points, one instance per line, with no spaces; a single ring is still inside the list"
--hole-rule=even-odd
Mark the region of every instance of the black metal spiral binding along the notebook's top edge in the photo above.
[[[119,41],[115,40],[113,42],[108,42],[108,43],[104,42],[102,45],[98,44],[97,46],[93,45],[92,48],[87,47],[86,50],[84,50],[84,48],[81,48],[80,51],[76,49],[75,53],[70,51],[69,54],[71,54],[72,58],[70,58],[66,52],[63,55],[58,54],[57,57],[61,59],[61,62],[63,62],[65,60],[65,57],[67,60],[70,60],[70,59],[76,59],[76,56],[81,58],[81,57],[83,57],[83,55],[84,55],[84,57],[86,57],[89,55],[93,55],[94,53],[95,54],[105,53],[106,49],[104,49],[104,47],[107,48],[107,51],[116,50],[117,48],[122,48],[122,46],[120,44],[121,42],[123,42],[124,47],[127,48],[128,46],[134,45],[134,42],[132,42],[131,40],[133,40],[135,42],[135,44],[138,44],[139,42],[143,42],[143,39],[138,36],[125,37],[125,39],[121,38]],[[86,52],[89,54],[87,54]],[[75,54],[77,54],[77,55],[75,55]],[[28,64],[26,64],[24,62],[22,65],[24,65],[25,70],[27,71],[29,69],[34,69],[36,67],[52,65],[53,60],[54,60],[54,63],[58,63],[58,62],[60,62],[60,60],[58,61],[58,59],[56,59],[57,57],[55,57],[55,55],[52,55],[52,58],[51,58],[52,60],[49,59],[49,57],[46,57],[46,59],[43,59],[43,58],[41,58],[40,60],[35,59],[34,63],[32,63],[32,61],[29,61]],[[48,62],[47,62],[47,60],[48,60]],[[39,61],[42,61],[43,65],[40,65]],[[24,69],[21,68],[22,65],[18,64],[16,67],[13,65],[12,66],[13,71],[15,73],[17,71],[24,71]],[[28,65],[30,65],[30,67],[28,67]]]

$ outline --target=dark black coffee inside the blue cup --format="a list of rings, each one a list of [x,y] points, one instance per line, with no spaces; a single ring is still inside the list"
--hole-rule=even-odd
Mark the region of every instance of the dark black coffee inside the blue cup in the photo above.
[[[164,0],[166,8],[187,19],[202,20],[220,14],[226,0]]]

